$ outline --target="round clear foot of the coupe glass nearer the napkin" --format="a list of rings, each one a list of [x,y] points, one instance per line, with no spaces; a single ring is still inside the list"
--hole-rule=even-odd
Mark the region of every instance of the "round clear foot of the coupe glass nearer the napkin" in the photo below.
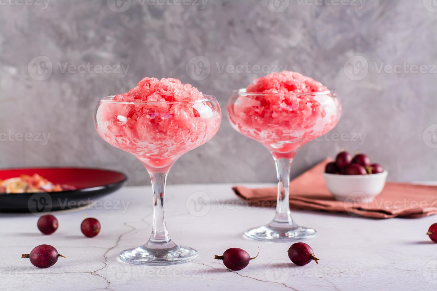
[[[298,226],[294,223],[272,222],[265,226],[248,229],[244,234],[252,240],[284,243],[309,240],[315,237],[317,232],[315,229]]]

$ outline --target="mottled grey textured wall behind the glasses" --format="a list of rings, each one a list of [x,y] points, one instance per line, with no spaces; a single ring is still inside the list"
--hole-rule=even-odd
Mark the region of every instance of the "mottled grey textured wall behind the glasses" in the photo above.
[[[51,0],[47,7],[10,0],[14,5],[0,6],[0,133],[31,136],[30,141],[3,138],[0,167],[113,168],[126,172],[131,185],[148,184],[134,157],[95,132],[97,98],[125,92],[144,76],[174,77],[217,96],[224,109],[232,89],[265,74],[255,68],[222,72],[220,67],[247,62],[287,65],[337,89],[342,100],[343,116],[333,132],[349,140],[331,136],[305,145],[295,158],[293,176],[346,147],[379,161],[391,180],[437,180],[433,0],[368,0],[362,9],[358,1],[358,6],[355,1],[337,6],[329,0],[317,2],[323,5],[302,1],[285,0],[288,7],[277,13],[270,0],[209,0],[205,7],[201,2],[132,0],[125,2],[130,6],[124,12],[126,6],[110,9],[117,11],[114,0]],[[32,78],[31,60],[38,56],[52,63],[43,81]],[[360,80],[352,80],[349,58],[357,69],[364,68]],[[205,59],[209,65],[199,62]],[[37,60],[38,65],[41,57]],[[58,62],[130,66],[123,77],[62,73]],[[192,75],[190,62],[205,67],[204,74]],[[427,72],[378,72],[382,63],[404,62],[426,65]],[[51,134],[49,142],[43,144],[34,133]],[[353,133],[367,134],[364,143],[354,141]],[[225,115],[216,137],[181,157],[169,178],[170,183],[275,180],[267,150],[232,130]]]

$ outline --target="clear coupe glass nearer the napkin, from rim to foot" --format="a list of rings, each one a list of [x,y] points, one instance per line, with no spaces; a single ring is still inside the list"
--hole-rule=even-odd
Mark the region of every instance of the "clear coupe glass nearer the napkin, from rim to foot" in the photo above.
[[[252,93],[240,89],[229,98],[227,112],[232,127],[267,147],[276,163],[276,215],[267,225],[247,230],[246,236],[275,242],[316,236],[316,230],[298,226],[291,219],[290,167],[299,148],[338,123],[341,105],[336,92]]]

